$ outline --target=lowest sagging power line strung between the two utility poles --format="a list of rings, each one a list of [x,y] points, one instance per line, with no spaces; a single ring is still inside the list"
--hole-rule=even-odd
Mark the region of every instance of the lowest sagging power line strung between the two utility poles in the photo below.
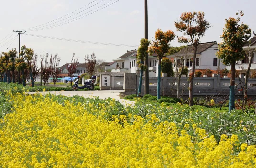
[[[115,44],[115,43],[103,43],[103,42],[92,42],[92,41],[82,41],[82,40],[73,40],[67,38],[58,38],[58,37],[50,37],[50,36],[41,36],[35,34],[27,34],[24,35],[35,36],[35,37],[42,37],[42,38],[50,38],[55,40],[62,40],[62,41],[72,41],[72,42],[80,42],[80,43],[90,43],[90,44],[100,44],[100,45],[113,45],[113,46],[125,46],[125,47],[138,47],[138,45],[126,45],[126,44]]]

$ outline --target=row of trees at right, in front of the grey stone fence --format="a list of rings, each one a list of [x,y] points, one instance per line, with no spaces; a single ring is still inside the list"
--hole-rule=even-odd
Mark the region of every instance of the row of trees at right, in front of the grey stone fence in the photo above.
[[[250,38],[251,29],[249,29],[247,24],[240,24],[240,18],[244,15],[243,11],[237,12],[237,18],[230,17],[226,19],[226,24],[223,29],[223,34],[221,36],[222,42],[219,45],[219,51],[217,52],[217,57],[219,57],[223,64],[231,65],[231,79],[230,79],[230,97],[229,97],[229,110],[234,109],[234,78],[235,78],[235,65],[236,61],[241,60],[245,56],[245,51],[243,46],[248,43]],[[140,75],[140,85],[138,89],[138,96],[141,93],[142,85],[142,71],[148,67],[144,67],[142,61],[145,59],[147,53],[156,53],[158,58],[158,82],[157,82],[157,98],[160,98],[160,78],[161,78],[161,62],[162,58],[167,52],[174,52],[181,57],[181,64],[176,63],[176,76],[178,76],[177,85],[177,97],[179,95],[179,81],[184,69],[184,61],[186,60],[187,54],[190,52],[189,49],[181,50],[184,47],[171,47],[170,42],[177,37],[180,43],[190,43],[193,46],[193,58],[192,58],[192,70],[189,74],[189,106],[193,106],[193,81],[195,74],[195,60],[197,47],[200,42],[201,37],[203,37],[206,31],[211,27],[210,23],[206,21],[204,12],[183,12],[179,17],[179,21],[175,22],[175,27],[177,31],[182,32],[182,36],[177,36],[173,31],[167,30],[163,32],[158,29],[155,32],[155,40],[151,43],[147,39],[142,39],[140,47],[138,48],[137,60],[139,67],[141,68]],[[151,45],[150,45],[151,44]],[[149,46],[150,45],[150,46]],[[183,51],[183,53],[182,53]],[[185,53],[184,53],[185,51]],[[246,72],[246,87],[250,71],[250,64],[252,62],[252,53],[250,51],[249,55],[249,67]],[[179,69],[178,69],[179,68]],[[170,72],[172,73],[172,72]],[[146,84],[145,84],[146,85]],[[246,89],[247,90],[247,89]],[[247,97],[247,93],[245,93]]]

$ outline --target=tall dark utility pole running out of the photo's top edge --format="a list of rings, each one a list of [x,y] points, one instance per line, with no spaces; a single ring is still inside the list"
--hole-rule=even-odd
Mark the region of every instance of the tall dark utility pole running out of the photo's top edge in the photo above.
[[[145,3],[144,3],[144,7],[145,7],[145,39],[148,39],[148,34],[147,34],[147,0],[145,0]],[[145,58],[145,62],[144,62],[144,65],[146,67],[145,69],[145,80],[144,80],[144,95],[148,94],[149,92],[149,89],[148,89],[148,85],[149,85],[149,82],[148,82],[148,54],[146,54],[146,58]]]

